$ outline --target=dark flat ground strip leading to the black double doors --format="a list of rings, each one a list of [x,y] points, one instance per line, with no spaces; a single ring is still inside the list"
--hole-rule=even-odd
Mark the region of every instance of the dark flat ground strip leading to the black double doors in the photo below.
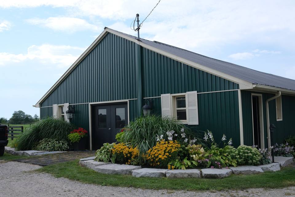
[[[65,153],[45,154],[31,156],[26,159],[17,159],[15,161],[37,164],[39,166],[48,166],[55,163],[62,163],[95,156],[95,151],[69,151]]]

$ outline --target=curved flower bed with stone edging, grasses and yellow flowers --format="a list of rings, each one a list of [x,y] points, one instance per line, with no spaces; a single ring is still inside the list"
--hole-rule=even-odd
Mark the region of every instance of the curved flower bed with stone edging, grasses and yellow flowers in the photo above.
[[[140,117],[116,135],[116,143],[104,143],[93,161],[81,161],[81,166],[90,166],[100,173],[136,177],[225,178],[231,174],[279,171],[293,161],[293,146],[288,143],[269,149],[232,147],[232,139],[225,134],[219,143],[212,131],[195,134],[175,119]],[[272,148],[277,163],[270,160]]]

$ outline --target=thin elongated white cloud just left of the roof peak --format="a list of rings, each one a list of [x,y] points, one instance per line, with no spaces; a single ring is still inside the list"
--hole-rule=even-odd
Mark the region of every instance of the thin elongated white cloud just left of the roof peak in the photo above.
[[[101,31],[102,29],[101,23],[99,26],[96,26],[81,18],[73,17],[49,17],[47,19],[31,18],[26,21],[33,25],[41,25],[49,29],[66,31],[69,33],[84,30]]]

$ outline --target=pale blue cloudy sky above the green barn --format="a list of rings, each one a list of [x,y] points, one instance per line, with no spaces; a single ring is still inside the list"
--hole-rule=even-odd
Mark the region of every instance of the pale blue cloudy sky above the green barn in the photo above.
[[[32,107],[104,30],[158,0],[0,1],[0,117]],[[295,79],[295,1],[161,0],[140,37]]]

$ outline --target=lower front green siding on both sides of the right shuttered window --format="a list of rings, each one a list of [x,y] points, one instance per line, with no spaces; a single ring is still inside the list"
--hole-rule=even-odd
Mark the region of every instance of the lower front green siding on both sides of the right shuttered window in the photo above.
[[[153,114],[161,114],[161,98],[153,98]],[[199,125],[189,125],[192,130],[212,131],[216,142],[225,134],[233,139],[233,146],[240,145],[238,90],[198,94]]]

